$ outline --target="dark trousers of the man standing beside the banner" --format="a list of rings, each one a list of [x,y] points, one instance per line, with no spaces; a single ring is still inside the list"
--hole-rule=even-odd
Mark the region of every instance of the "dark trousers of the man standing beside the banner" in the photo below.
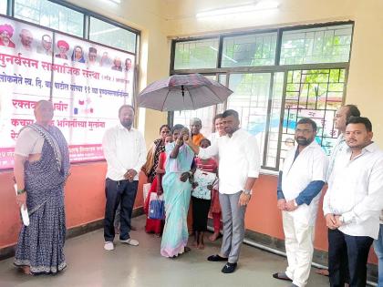
[[[105,241],[113,241],[114,232],[114,218],[116,215],[117,207],[121,204],[119,212],[120,232],[119,239],[129,239],[129,231],[131,229],[130,220],[133,211],[134,200],[136,200],[137,188],[139,181],[134,180],[119,180],[106,179],[105,193],[107,196],[107,204],[105,206],[105,219],[104,219],[104,239]]]

